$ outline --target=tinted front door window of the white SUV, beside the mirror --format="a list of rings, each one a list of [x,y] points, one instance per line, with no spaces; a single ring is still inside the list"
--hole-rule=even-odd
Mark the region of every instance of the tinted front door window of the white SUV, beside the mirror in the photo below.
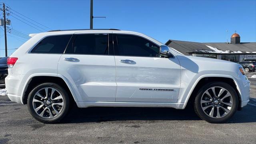
[[[140,36],[117,34],[115,55],[121,56],[152,56],[159,53],[159,46]]]

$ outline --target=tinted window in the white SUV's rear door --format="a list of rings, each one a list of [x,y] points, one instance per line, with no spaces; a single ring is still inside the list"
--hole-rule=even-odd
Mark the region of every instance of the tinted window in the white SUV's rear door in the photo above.
[[[108,55],[108,34],[77,34],[72,49],[73,54]]]

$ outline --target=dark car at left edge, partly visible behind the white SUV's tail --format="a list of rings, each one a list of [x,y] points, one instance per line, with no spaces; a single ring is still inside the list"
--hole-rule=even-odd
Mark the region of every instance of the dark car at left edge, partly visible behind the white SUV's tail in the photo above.
[[[5,87],[4,79],[8,75],[7,58],[8,57],[4,57],[0,59],[0,88]]]

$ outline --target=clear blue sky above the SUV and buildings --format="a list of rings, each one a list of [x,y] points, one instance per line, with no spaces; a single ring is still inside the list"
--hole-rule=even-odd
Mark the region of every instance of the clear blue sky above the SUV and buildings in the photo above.
[[[0,0],[0,2],[6,3],[12,9],[10,16],[7,16],[12,22],[12,26],[9,27],[25,34],[45,32],[50,30],[48,28],[59,30],[90,27],[89,0]],[[241,42],[256,42],[256,0],[94,0],[94,16],[106,16],[106,19],[94,19],[94,28],[117,28],[141,32],[162,43],[168,39],[226,42],[226,30],[229,41],[236,30],[241,36]],[[0,57],[3,57],[4,32],[2,26],[1,28]],[[10,35],[9,49],[18,48],[26,42],[26,39],[20,36],[8,35]],[[12,52],[14,50],[8,50],[8,56]]]

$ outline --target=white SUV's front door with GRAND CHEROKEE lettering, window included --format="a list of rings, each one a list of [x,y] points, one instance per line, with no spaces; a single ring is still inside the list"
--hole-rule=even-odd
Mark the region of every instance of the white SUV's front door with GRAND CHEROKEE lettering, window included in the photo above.
[[[117,102],[176,102],[181,69],[174,58],[159,58],[159,46],[130,34],[114,34]]]

